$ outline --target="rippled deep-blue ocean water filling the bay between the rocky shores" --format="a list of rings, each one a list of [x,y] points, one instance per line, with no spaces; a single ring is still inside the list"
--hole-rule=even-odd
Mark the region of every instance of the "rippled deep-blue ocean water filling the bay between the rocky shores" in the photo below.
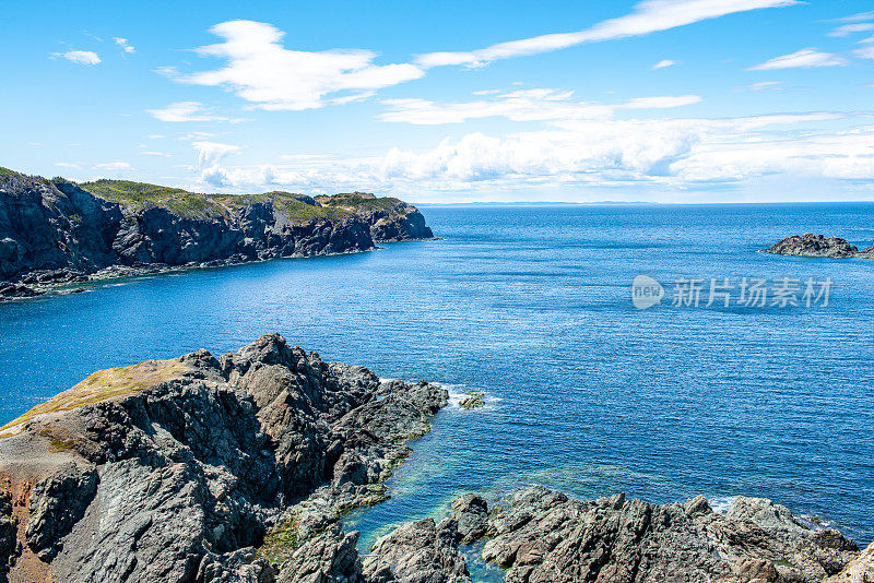
[[[486,394],[439,413],[391,500],[349,516],[363,549],[459,493],[529,484],[723,509],[763,496],[874,539],[874,261],[756,252],[806,231],[874,245],[874,205],[422,210],[446,240],[0,305],[0,423],[96,369],[279,331],[326,359],[445,383],[453,403]],[[633,306],[639,274],[664,285],[661,305]],[[834,284],[828,306],[739,306],[735,289],[706,307],[725,277]],[[700,306],[672,306],[681,278],[706,281]]]

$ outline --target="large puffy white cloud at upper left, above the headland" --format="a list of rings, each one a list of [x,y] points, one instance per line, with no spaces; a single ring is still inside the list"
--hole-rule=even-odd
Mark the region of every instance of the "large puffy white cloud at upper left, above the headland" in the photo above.
[[[424,75],[410,63],[375,64],[377,53],[369,50],[290,50],[281,44],[285,33],[267,23],[229,21],[210,32],[224,41],[196,51],[225,59],[224,67],[191,74],[163,72],[182,83],[226,87],[262,109],[312,109],[324,106],[328,96],[341,102],[366,98],[368,92]]]

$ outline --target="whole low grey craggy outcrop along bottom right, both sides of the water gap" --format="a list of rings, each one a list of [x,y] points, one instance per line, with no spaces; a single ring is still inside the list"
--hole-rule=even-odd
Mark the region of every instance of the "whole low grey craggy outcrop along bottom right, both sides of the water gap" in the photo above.
[[[763,498],[740,497],[722,515],[704,497],[664,505],[623,495],[580,501],[533,486],[491,509],[465,495],[437,525],[400,526],[364,558],[364,580],[468,581],[459,547],[476,540],[511,583],[864,582],[874,556],[874,545],[860,555],[837,531],[807,528]]]

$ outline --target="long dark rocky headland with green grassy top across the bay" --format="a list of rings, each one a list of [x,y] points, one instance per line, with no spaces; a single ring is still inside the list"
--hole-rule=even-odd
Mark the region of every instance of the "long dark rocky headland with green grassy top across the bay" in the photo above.
[[[352,253],[433,236],[415,206],[363,192],[197,194],[0,168],[0,299],[91,279]]]

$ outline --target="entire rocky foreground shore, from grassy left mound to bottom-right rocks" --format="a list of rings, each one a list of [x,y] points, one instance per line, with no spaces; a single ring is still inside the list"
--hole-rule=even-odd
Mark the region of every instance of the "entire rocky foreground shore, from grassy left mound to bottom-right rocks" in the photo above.
[[[461,496],[361,556],[343,514],[387,498],[447,403],[279,334],[95,372],[0,428],[0,581],[469,583],[470,552],[512,583],[874,581],[874,545],[770,500],[541,486]]]

